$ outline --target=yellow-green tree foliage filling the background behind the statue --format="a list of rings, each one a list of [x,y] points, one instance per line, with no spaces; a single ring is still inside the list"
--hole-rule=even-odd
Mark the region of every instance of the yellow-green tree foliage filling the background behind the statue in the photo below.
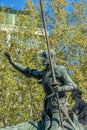
[[[57,53],[56,62],[66,66],[87,101],[86,4],[85,1],[72,3],[72,12],[66,10],[66,0],[47,0],[44,7],[50,31],[49,43]],[[4,52],[9,52],[14,61],[26,67],[43,69],[38,60],[40,50],[46,48],[44,36],[37,33],[42,30],[39,4],[37,9],[28,0],[23,11],[28,15],[17,13],[14,28],[10,30],[6,24],[7,30],[0,31],[1,127],[40,119],[43,109],[42,86],[16,71],[4,56]],[[1,25],[5,14],[0,12]]]

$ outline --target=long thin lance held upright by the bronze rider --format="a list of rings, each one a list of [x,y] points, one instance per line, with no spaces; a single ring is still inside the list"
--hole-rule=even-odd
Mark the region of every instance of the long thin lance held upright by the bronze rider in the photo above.
[[[39,3],[40,3],[40,8],[41,8],[41,15],[42,15],[43,27],[44,27],[44,32],[45,32],[45,38],[46,38],[46,45],[47,45],[47,50],[48,50],[49,62],[50,62],[50,66],[51,66],[52,81],[53,81],[52,85],[53,85],[53,87],[55,87],[58,84],[57,84],[57,81],[56,81],[54,68],[53,68],[53,65],[52,65],[50,46],[49,46],[49,41],[48,41],[47,29],[46,29],[46,22],[45,22],[44,13],[43,13],[44,11],[43,11],[42,0],[39,0]],[[63,128],[62,116],[61,116],[61,108],[60,108],[60,105],[59,105],[59,95],[58,95],[58,92],[55,92],[55,94],[56,94],[56,98],[57,98],[57,104],[58,104],[58,107],[59,107],[60,127]]]

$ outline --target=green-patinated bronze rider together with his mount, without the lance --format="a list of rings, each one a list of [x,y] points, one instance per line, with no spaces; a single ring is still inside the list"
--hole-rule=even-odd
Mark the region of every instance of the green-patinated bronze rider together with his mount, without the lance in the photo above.
[[[54,68],[55,77],[57,80],[56,86],[52,85],[52,73],[49,62],[48,51],[43,51],[41,57],[45,69],[38,71],[29,67],[22,66],[19,63],[13,61],[9,53],[5,53],[5,56],[9,60],[10,64],[19,72],[27,77],[32,77],[40,80],[43,84],[44,92],[46,94],[44,98],[44,109],[42,112],[42,121],[39,123],[25,122],[17,126],[12,126],[10,129],[17,130],[84,130],[82,125],[78,122],[77,117],[74,114],[68,112],[68,103],[66,100],[66,92],[72,91],[77,88],[76,84],[72,81],[67,70],[64,66],[56,65],[54,61],[54,51],[50,50],[52,65]],[[59,96],[59,102],[57,102],[56,93]],[[58,104],[59,103],[59,104]],[[61,108],[61,113],[59,113]],[[61,117],[60,117],[61,114]],[[70,118],[71,117],[71,118]],[[60,119],[61,118],[61,119]],[[62,127],[60,124],[62,122]]]

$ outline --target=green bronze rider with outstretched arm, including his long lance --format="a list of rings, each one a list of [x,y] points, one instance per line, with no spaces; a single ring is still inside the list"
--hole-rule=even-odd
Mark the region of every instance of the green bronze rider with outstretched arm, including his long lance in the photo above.
[[[42,53],[45,69],[42,71],[30,69],[14,62],[9,53],[5,53],[5,55],[12,66],[27,77],[42,79],[41,83],[43,84],[46,97],[44,99],[42,121],[40,123],[40,127],[36,127],[38,130],[83,130],[83,127],[80,128],[77,118],[73,118],[73,121],[74,119],[76,121],[76,123],[73,123],[68,115],[65,92],[72,91],[76,89],[77,86],[71,80],[66,68],[64,66],[57,66],[54,62],[54,53],[49,48],[41,0],[40,6],[48,49],[48,51],[43,51]],[[64,118],[64,116],[66,116],[66,118]],[[64,123],[64,121],[66,122]],[[23,127],[23,130],[27,129]]]

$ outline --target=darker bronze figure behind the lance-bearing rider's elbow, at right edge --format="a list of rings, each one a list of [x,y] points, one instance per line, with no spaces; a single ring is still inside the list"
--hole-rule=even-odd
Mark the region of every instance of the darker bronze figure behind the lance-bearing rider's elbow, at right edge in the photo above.
[[[75,112],[81,124],[87,125],[87,103],[82,99],[82,91],[73,90],[71,96],[75,100],[72,111]]]

